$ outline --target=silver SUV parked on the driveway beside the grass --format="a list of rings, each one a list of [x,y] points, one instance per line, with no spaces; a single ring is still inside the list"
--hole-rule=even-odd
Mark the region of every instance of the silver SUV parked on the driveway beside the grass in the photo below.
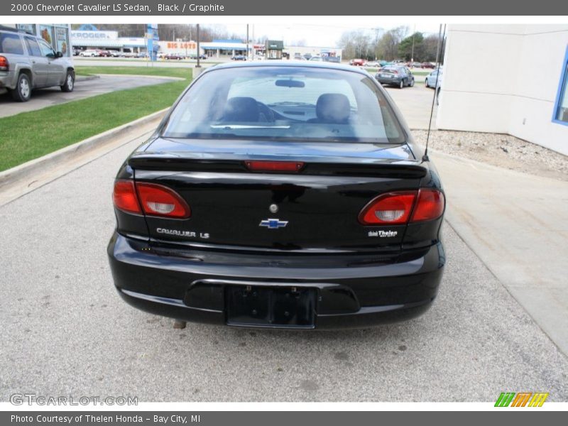
[[[59,86],[63,92],[75,87],[70,58],[41,38],[16,29],[0,29],[0,92],[8,89],[13,99],[26,102],[32,89]]]

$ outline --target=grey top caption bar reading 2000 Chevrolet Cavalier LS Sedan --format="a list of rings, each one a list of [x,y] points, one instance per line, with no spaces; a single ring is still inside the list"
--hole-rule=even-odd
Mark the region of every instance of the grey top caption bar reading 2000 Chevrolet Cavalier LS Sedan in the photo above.
[[[401,6],[397,1],[266,1],[240,0],[192,3],[173,0],[138,0],[121,3],[109,0],[11,0],[0,2],[3,16],[562,16],[568,15],[568,1],[540,0],[515,2],[508,0],[409,0]]]

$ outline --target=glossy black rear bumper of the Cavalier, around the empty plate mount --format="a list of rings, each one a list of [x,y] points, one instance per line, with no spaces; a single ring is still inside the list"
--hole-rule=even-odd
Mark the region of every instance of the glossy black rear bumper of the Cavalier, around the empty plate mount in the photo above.
[[[368,327],[421,315],[437,295],[445,263],[441,243],[401,261],[369,266],[349,266],[356,265],[352,256],[346,261],[334,254],[336,268],[317,262],[309,267],[271,266],[266,253],[232,262],[230,253],[222,262],[192,253],[195,256],[169,256],[153,251],[145,241],[116,233],[108,246],[116,289],[138,309],[178,320],[227,324],[229,289],[312,289],[315,309],[313,324],[304,327],[308,329]],[[236,325],[299,328],[281,323]]]

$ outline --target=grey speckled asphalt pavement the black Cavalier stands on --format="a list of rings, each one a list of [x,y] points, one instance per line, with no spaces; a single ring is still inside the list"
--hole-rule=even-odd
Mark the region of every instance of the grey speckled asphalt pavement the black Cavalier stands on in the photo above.
[[[111,189],[142,141],[0,207],[0,400],[492,401],[503,391],[568,400],[567,358],[447,223],[439,297],[409,322],[344,332],[174,329],[126,305],[107,262]]]

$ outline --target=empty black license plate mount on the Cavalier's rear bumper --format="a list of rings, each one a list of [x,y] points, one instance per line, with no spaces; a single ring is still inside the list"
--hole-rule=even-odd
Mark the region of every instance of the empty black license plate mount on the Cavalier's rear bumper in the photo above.
[[[244,327],[315,328],[317,290],[229,285],[226,324]]]

